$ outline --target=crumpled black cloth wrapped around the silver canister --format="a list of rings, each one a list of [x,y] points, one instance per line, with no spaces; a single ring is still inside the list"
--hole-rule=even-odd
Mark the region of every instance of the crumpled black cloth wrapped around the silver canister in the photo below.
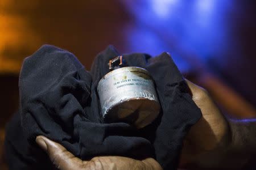
[[[72,53],[50,45],[24,60],[19,77],[20,109],[6,127],[10,169],[52,168],[35,143],[37,135],[59,142],[84,160],[100,155],[151,156],[164,169],[177,167],[183,138],[201,117],[183,76],[167,53],[124,55],[128,66],[150,72],[162,109],[152,124],[140,130],[123,122],[105,124],[97,84],[109,72],[109,59],[118,55],[108,46],[94,59],[90,72]]]

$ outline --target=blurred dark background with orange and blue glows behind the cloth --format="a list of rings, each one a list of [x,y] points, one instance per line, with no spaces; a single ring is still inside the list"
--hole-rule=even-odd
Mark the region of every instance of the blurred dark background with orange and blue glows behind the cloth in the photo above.
[[[239,0],[0,0],[0,169],[6,122],[19,104],[23,59],[43,44],[90,70],[98,52],[169,52],[230,117],[255,117],[256,2]]]

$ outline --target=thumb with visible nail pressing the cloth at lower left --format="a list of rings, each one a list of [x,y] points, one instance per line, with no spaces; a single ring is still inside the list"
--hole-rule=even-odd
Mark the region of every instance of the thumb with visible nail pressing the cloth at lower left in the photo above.
[[[44,136],[36,137],[36,143],[47,152],[51,162],[61,170],[81,169],[85,163],[76,158],[71,152],[59,143],[53,142]]]

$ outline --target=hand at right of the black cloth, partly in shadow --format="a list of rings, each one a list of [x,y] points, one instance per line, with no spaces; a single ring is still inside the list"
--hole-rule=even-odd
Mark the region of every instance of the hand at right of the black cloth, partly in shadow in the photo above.
[[[207,91],[188,80],[187,83],[203,116],[185,137],[181,165],[213,167],[221,162],[230,144],[229,125]]]

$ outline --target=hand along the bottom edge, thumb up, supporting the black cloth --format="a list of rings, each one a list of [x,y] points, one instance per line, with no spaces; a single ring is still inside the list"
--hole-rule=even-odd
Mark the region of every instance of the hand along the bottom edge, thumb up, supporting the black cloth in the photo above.
[[[53,142],[46,137],[36,137],[36,143],[47,152],[52,163],[60,170],[162,169],[158,162],[152,158],[135,160],[122,156],[97,156],[91,160],[83,161],[76,158],[59,143]]]

